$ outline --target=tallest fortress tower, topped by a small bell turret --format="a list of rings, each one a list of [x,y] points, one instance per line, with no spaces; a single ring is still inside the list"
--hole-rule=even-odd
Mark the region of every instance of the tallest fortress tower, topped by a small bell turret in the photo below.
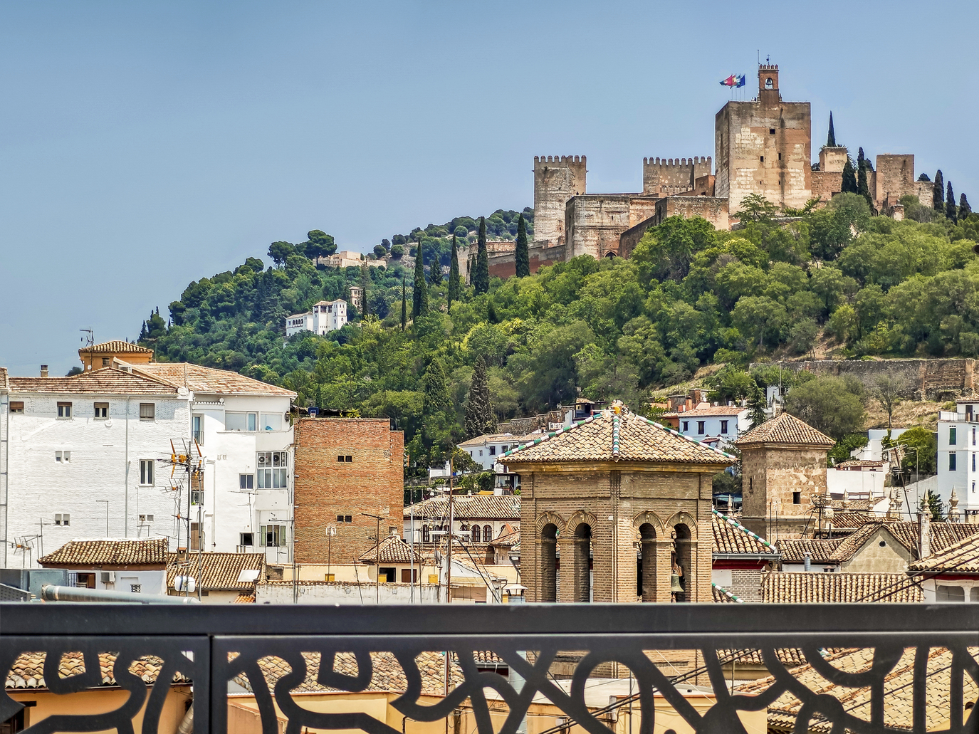
[[[808,102],[783,102],[778,67],[758,67],[758,97],[728,102],[715,117],[715,195],[733,214],[749,194],[801,208],[813,197]]]

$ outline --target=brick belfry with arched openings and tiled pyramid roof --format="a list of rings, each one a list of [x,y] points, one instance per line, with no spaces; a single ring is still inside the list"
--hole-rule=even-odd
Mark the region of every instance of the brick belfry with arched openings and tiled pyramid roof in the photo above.
[[[711,479],[734,459],[621,403],[503,454],[531,602],[710,602]]]

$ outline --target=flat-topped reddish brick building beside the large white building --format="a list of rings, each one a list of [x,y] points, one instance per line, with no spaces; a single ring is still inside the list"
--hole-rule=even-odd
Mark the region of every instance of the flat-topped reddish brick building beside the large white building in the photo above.
[[[399,531],[404,509],[404,434],[387,418],[301,418],[296,422],[296,560],[354,563]]]

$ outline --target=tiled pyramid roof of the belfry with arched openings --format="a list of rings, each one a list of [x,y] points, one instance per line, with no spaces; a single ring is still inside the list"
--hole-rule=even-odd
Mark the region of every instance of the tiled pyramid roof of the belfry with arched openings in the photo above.
[[[638,461],[729,466],[735,459],[672,429],[624,411],[603,410],[571,428],[535,438],[503,454],[523,462]]]

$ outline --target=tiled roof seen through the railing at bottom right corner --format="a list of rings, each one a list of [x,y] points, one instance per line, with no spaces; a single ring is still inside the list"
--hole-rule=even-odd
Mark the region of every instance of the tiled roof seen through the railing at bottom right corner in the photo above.
[[[889,730],[911,730],[914,727],[913,696],[914,658],[915,649],[905,650],[904,655],[887,673],[884,680],[884,719],[879,726]],[[975,648],[970,650],[976,658]],[[837,670],[846,673],[864,672],[873,665],[874,650],[864,648],[845,650],[826,656],[825,661]],[[953,665],[953,655],[946,648],[932,648],[928,651],[927,675],[925,677],[922,731],[940,731],[949,728],[949,711],[951,711],[951,686],[948,672]],[[826,680],[810,665],[800,665],[789,670],[789,674],[801,685],[820,696],[832,696],[839,701],[842,710],[870,724],[871,688],[844,686]],[[774,678],[762,678],[752,681],[736,689],[740,694],[762,694]],[[979,696],[979,686],[972,676],[965,675],[963,679],[962,698],[964,701],[975,701]],[[796,717],[802,709],[803,702],[791,692],[785,692],[769,704],[769,731],[787,732],[795,729]],[[829,721],[818,713],[809,720],[807,729],[811,732],[829,732],[832,730]]]

